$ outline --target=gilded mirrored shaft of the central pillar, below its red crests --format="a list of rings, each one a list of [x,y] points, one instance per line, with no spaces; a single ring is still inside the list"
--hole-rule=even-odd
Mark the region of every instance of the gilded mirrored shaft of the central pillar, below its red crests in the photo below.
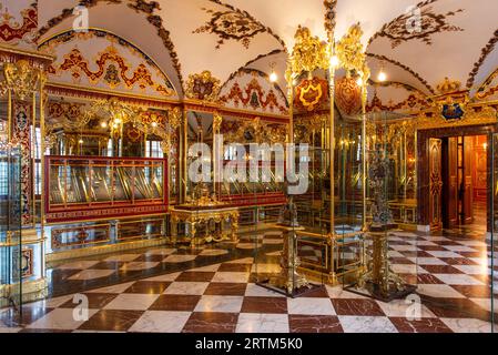
[[[297,253],[301,270],[337,283],[355,280],[364,265],[364,126],[362,116],[335,114],[331,151],[328,120],[326,113],[296,120],[296,143],[309,144],[308,190],[295,196],[305,227]]]

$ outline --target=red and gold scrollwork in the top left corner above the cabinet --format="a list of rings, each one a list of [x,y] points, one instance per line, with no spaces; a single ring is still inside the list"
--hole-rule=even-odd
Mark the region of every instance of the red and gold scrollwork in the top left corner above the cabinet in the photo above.
[[[16,44],[20,41],[34,42],[38,28],[38,12],[34,7],[21,11],[22,22],[19,23],[16,17],[9,13],[7,7],[0,4],[0,39],[4,42]]]

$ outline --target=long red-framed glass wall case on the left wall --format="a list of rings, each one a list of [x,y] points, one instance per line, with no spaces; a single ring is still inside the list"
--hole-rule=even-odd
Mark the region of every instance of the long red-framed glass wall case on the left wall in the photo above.
[[[164,213],[166,160],[47,156],[47,221]]]

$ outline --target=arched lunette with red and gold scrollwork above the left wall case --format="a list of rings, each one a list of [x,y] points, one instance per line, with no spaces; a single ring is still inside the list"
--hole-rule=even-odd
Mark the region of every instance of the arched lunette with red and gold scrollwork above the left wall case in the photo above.
[[[39,42],[38,47],[54,57],[48,70],[52,83],[177,99],[171,80],[150,55],[109,31],[70,30]]]

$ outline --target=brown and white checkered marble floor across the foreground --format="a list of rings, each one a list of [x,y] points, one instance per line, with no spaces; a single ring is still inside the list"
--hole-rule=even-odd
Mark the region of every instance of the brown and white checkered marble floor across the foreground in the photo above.
[[[257,275],[278,270],[277,253],[267,251],[258,274],[254,258],[242,257],[143,277],[85,291],[88,320],[74,317],[70,294],[24,305],[18,322],[3,311],[0,332],[491,332],[490,265],[498,255],[485,242],[397,232],[389,255],[394,270],[418,285],[419,320],[407,318],[405,300],[374,301],[341,285],[297,298],[263,288]]]

